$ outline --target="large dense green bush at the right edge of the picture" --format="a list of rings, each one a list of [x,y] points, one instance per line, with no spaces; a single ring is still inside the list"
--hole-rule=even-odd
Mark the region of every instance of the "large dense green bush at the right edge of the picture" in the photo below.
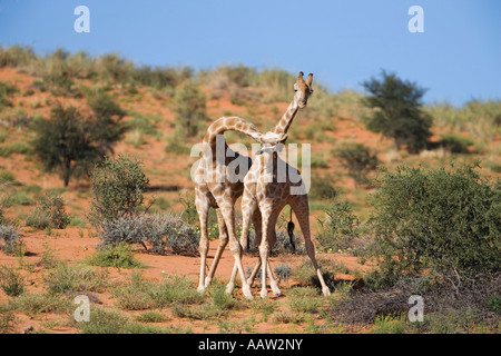
[[[370,256],[386,279],[430,273],[466,285],[501,266],[501,186],[474,167],[399,167],[372,198]]]

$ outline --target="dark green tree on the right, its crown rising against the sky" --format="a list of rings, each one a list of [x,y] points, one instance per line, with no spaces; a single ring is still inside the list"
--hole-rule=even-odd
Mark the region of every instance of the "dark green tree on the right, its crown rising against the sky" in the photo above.
[[[393,138],[395,148],[406,145],[410,152],[426,146],[432,119],[422,110],[425,89],[415,82],[402,80],[395,73],[382,71],[383,80],[372,78],[363,82],[370,96],[365,105],[376,109],[369,119],[367,129]]]

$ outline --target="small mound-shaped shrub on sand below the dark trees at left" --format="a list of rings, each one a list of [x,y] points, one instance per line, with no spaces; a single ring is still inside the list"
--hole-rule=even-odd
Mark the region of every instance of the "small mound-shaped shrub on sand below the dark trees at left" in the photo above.
[[[42,196],[33,212],[27,218],[26,225],[36,229],[63,229],[70,222],[65,211],[65,200],[56,194]]]

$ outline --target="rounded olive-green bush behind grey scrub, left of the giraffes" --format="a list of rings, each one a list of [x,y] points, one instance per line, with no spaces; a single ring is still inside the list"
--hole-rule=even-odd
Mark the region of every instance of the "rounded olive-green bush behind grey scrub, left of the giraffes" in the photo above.
[[[88,218],[99,233],[105,221],[134,216],[149,185],[140,164],[126,156],[106,158],[95,167],[90,179],[95,199]]]

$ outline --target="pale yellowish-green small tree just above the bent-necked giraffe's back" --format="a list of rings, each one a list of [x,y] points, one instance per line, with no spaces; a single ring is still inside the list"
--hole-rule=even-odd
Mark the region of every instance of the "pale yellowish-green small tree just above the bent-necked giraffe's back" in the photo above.
[[[186,137],[198,132],[198,123],[207,119],[205,95],[194,81],[186,80],[176,88],[174,103],[176,105],[177,122],[186,128]]]

